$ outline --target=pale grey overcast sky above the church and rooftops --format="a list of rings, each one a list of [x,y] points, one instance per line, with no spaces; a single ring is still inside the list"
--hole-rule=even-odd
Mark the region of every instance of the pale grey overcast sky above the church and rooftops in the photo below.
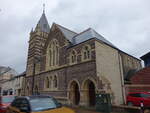
[[[76,32],[91,27],[139,58],[150,51],[150,0],[0,0],[0,66],[26,68],[29,32],[42,15]]]

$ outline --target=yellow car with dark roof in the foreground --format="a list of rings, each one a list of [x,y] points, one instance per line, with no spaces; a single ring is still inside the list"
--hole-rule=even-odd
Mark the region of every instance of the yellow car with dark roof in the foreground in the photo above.
[[[72,109],[63,107],[50,96],[17,97],[7,108],[7,113],[75,113]]]

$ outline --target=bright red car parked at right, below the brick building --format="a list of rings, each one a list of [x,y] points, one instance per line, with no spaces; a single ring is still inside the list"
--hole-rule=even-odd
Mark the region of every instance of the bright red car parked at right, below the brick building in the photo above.
[[[127,105],[150,107],[150,93],[149,92],[132,92],[127,96]]]

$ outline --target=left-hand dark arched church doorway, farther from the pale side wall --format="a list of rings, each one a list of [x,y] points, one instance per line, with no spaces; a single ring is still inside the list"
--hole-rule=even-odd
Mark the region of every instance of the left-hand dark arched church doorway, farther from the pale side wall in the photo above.
[[[73,105],[79,105],[80,102],[80,92],[79,86],[76,81],[73,81],[70,85],[70,100]]]

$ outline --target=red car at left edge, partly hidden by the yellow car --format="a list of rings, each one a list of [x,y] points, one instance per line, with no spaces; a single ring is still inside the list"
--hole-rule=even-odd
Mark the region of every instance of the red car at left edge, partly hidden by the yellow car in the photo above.
[[[0,113],[5,113],[6,108],[15,99],[15,96],[0,96]]]

